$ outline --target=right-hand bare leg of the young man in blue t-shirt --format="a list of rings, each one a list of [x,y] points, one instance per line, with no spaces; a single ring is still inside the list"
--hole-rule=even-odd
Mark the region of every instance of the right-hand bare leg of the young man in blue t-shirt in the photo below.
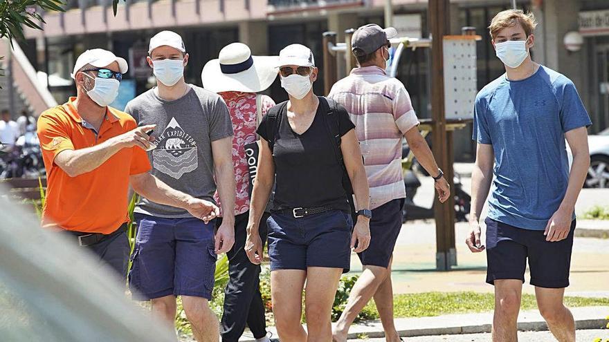
[[[565,289],[535,287],[537,307],[558,342],[575,342],[575,321],[563,305]]]

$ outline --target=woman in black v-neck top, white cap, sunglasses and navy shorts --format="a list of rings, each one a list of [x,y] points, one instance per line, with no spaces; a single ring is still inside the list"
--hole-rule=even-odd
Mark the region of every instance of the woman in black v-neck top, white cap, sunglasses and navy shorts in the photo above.
[[[311,341],[331,341],[338,280],[349,269],[351,248],[363,251],[370,243],[367,178],[347,111],[313,94],[318,69],[311,50],[287,46],[279,63],[289,101],[272,108],[257,131],[262,146],[245,249],[252,263],[262,261],[258,225],[275,177],[274,211],[267,223],[271,296],[280,340],[305,342],[308,333]],[[333,131],[341,137],[340,147]],[[345,169],[356,198],[355,227],[347,202],[351,194],[343,187]],[[305,281],[308,332],[300,325]]]

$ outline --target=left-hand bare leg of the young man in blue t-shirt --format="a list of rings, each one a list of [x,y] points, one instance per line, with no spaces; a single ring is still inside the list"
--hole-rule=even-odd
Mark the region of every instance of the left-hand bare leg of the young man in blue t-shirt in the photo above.
[[[493,342],[518,341],[520,298],[522,298],[522,281],[518,279],[495,281]]]

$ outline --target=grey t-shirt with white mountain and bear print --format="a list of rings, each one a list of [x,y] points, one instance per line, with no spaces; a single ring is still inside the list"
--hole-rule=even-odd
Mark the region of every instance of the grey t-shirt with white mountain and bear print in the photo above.
[[[148,152],[152,175],[190,196],[213,201],[216,191],[211,142],[233,135],[233,124],[224,100],[217,94],[190,85],[175,101],[165,101],[154,88],[131,100],[125,112],[139,126],[156,124],[156,149]],[[159,205],[142,198],[135,209],[161,218],[190,218],[188,211]]]

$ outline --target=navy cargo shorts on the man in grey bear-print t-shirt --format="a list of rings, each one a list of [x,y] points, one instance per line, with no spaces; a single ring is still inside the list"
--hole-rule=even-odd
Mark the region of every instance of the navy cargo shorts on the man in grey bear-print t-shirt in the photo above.
[[[214,222],[135,214],[136,247],[129,288],[136,298],[195,296],[211,299],[217,256]]]

